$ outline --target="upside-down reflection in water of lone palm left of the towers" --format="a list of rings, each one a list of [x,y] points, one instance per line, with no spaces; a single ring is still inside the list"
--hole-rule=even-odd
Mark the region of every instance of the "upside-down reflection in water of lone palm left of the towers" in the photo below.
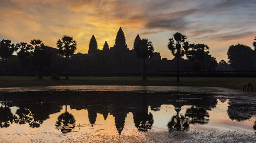
[[[72,129],[75,128],[75,122],[74,116],[67,112],[67,105],[65,113],[61,113],[61,115],[58,116],[57,122],[55,124],[56,129],[60,129],[61,132],[70,132]]]

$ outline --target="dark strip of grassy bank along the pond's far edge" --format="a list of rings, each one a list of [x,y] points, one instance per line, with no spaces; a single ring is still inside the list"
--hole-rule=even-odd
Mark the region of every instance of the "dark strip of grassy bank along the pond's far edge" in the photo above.
[[[223,87],[242,90],[243,82],[251,82],[256,86],[256,78],[216,78],[216,77],[181,77],[180,83],[176,77],[147,77],[143,81],[141,77],[70,77],[66,80],[53,80],[51,77],[44,77],[38,80],[37,77],[24,76],[0,76],[0,87],[31,87],[50,85],[159,85],[159,86],[196,86],[196,87]]]

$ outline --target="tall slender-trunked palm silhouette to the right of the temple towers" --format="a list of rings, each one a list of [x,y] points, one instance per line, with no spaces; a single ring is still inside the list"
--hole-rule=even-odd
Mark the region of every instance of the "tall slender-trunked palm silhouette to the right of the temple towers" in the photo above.
[[[177,58],[177,82],[180,82],[179,78],[179,59],[184,56],[188,50],[188,42],[185,41],[187,37],[181,33],[174,34],[173,38],[169,38],[168,49]]]

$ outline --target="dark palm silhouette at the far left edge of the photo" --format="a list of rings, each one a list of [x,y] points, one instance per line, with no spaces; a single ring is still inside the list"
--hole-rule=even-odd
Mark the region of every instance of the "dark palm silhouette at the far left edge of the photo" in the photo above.
[[[11,40],[2,39],[0,41],[0,56],[5,61],[5,70],[7,70],[7,60],[12,56],[15,50],[15,45]]]

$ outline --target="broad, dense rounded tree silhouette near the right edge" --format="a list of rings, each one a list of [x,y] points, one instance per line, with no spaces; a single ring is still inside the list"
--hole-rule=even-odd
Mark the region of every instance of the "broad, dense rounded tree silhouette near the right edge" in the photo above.
[[[246,45],[231,45],[228,48],[228,62],[235,70],[252,70],[253,50]]]

